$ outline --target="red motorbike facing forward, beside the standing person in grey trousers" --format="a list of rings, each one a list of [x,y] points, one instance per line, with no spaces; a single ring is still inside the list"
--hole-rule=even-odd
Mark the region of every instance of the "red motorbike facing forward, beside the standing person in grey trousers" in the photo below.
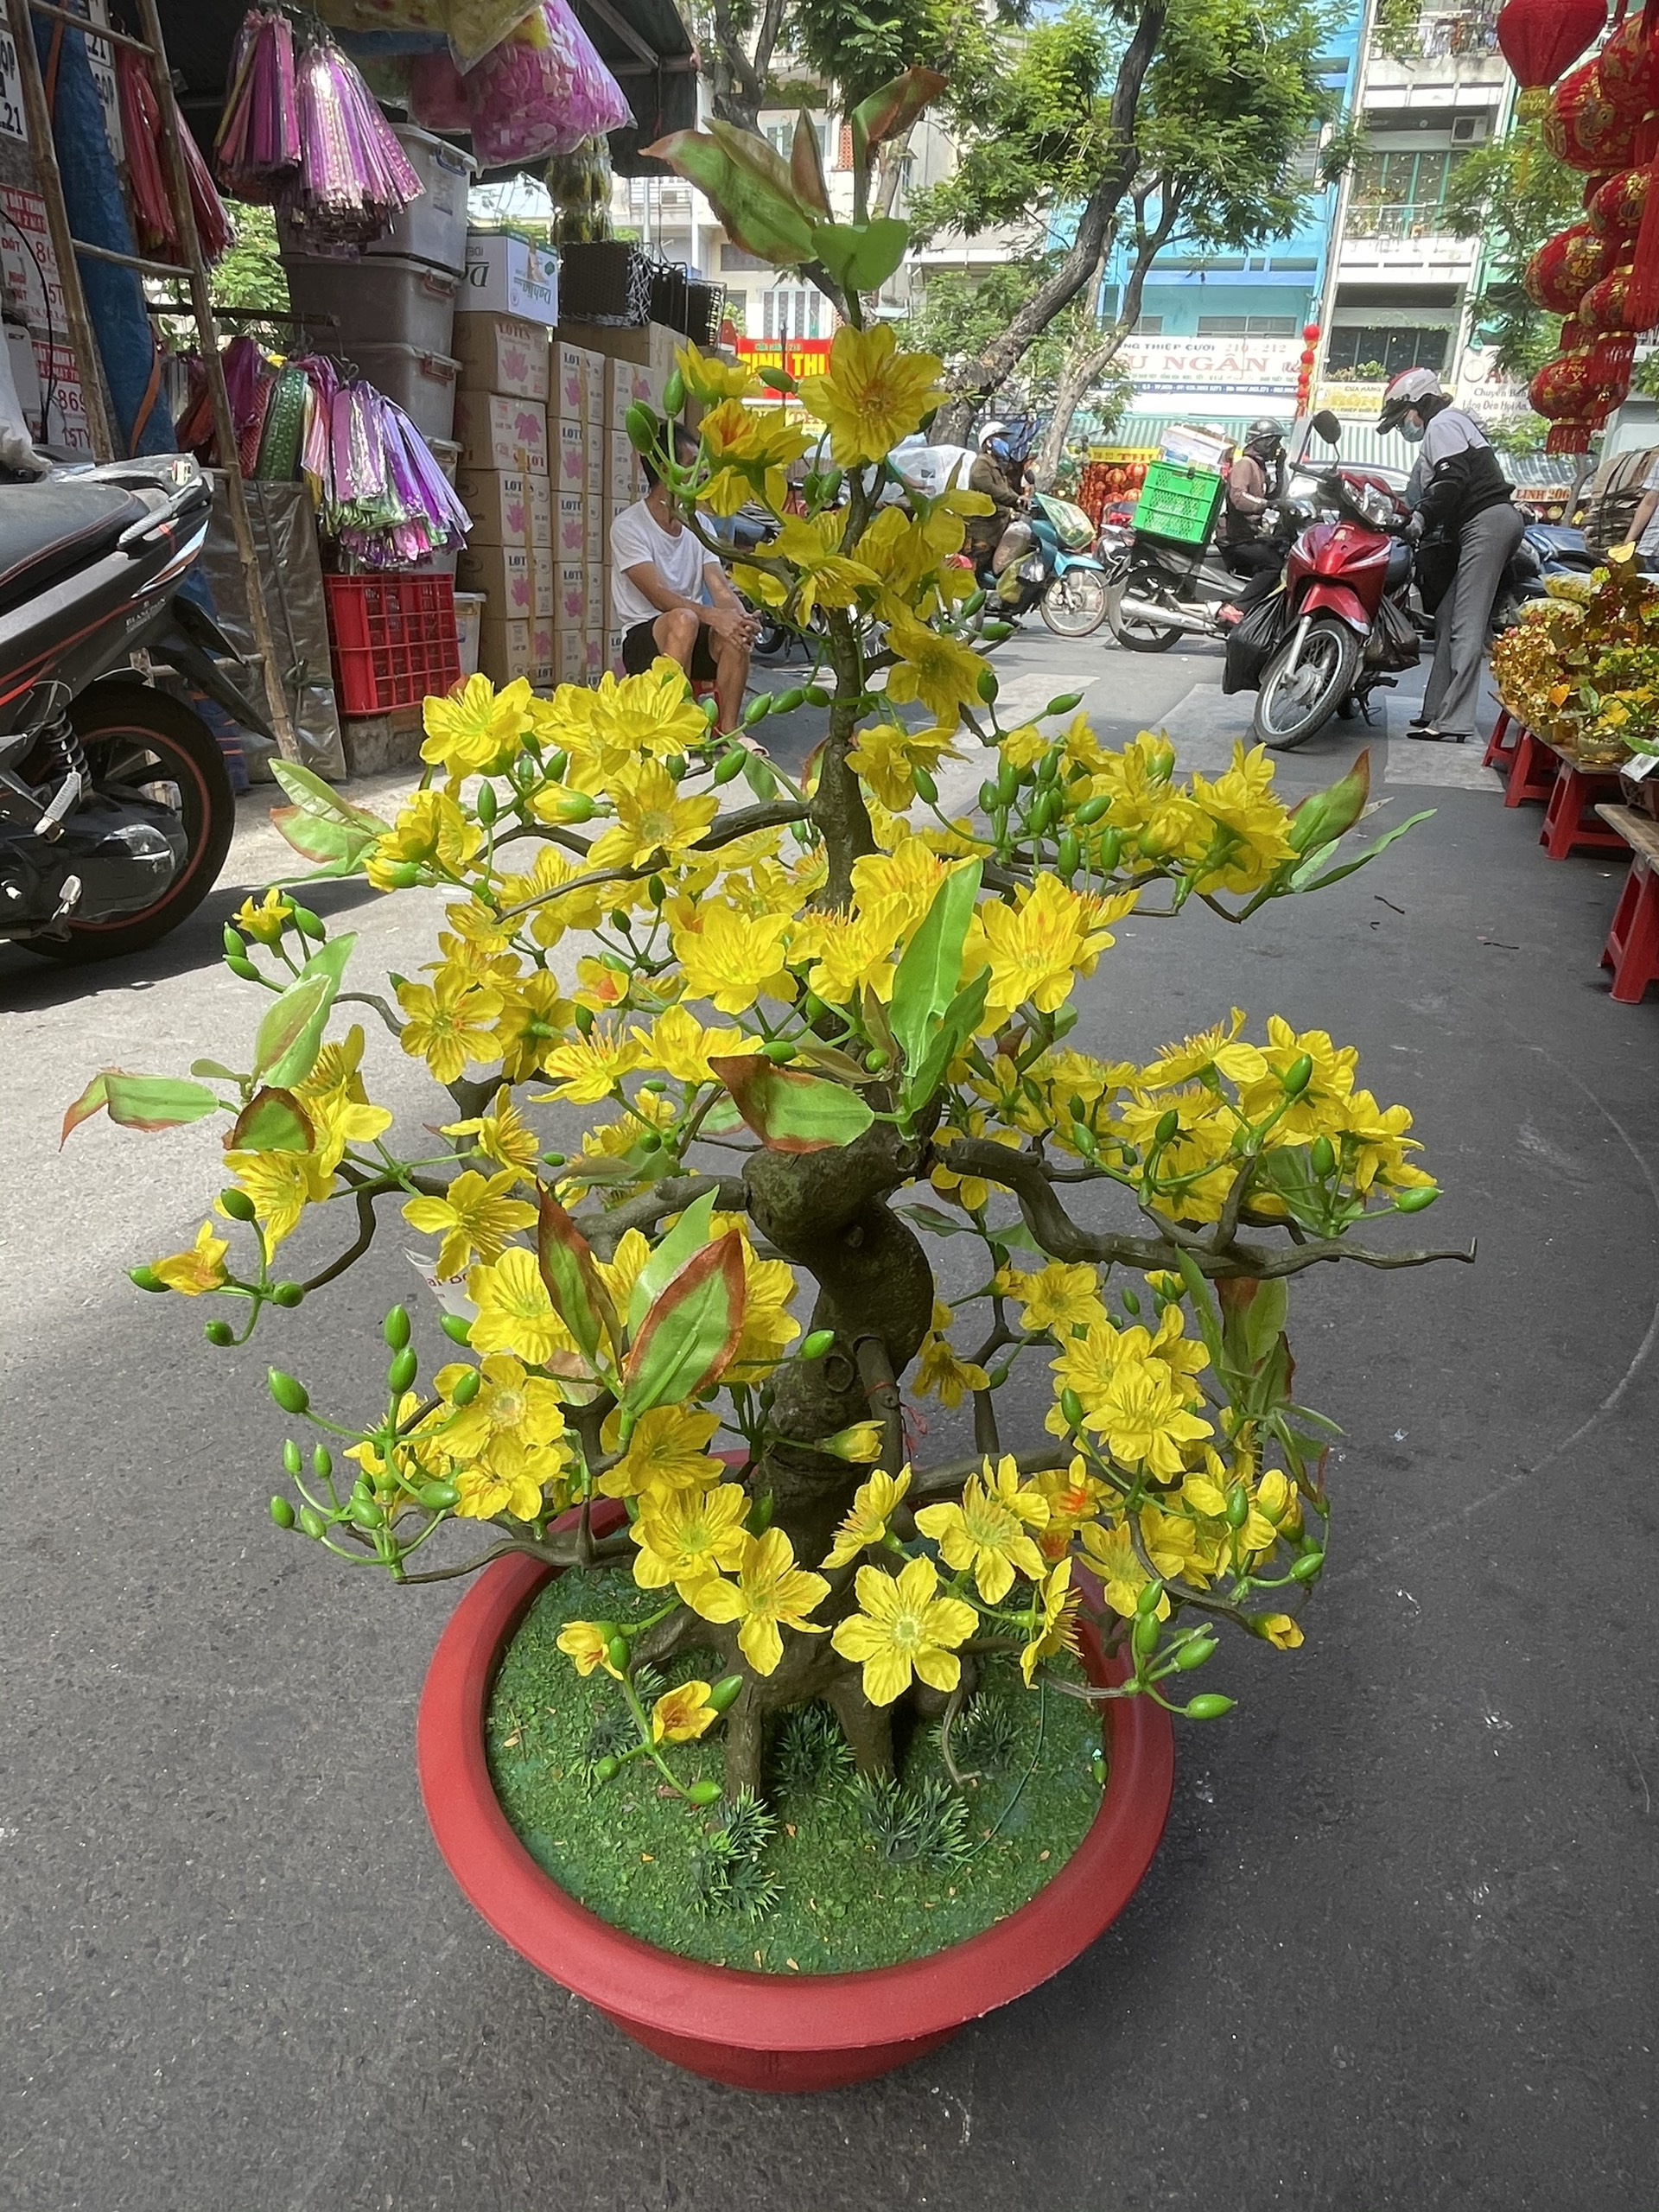
[[[1394,672],[1413,668],[1422,653],[1405,604],[1405,509],[1334,469],[1318,484],[1318,504],[1325,513],[1285,557],[1283,599],[1263,604],[1263,619],[1276,615],[1290,635],[1261,668],[1252,734],[1279,752],[1305,745],[1334,714],[1358,710],[1369,721],[1369,695],[1391,688]]]

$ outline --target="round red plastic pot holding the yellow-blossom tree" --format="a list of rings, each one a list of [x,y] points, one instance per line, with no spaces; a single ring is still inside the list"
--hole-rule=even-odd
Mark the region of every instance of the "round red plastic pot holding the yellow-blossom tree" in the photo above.
[[[1060,1973],[1152,1863],[1175,1785],[1170,1721],[1150,1699],[1117,1699],[1104,1708],[1108,1781],[1095,1825],[1046,1889],[967,1942],[905,1966],[776,1975],[706,1966],[624,1936],[535,1865],[484,1761],[495,1668],[551,1573],[538,1559],[498,1559],[438,1639],[416,1732],[427,1820],[504,1942],[675,2066],[750,2090],[843,2088],[889,2073]],[[1084,1659],[1097,1681],[1121,1679],[1097,1644]]]

